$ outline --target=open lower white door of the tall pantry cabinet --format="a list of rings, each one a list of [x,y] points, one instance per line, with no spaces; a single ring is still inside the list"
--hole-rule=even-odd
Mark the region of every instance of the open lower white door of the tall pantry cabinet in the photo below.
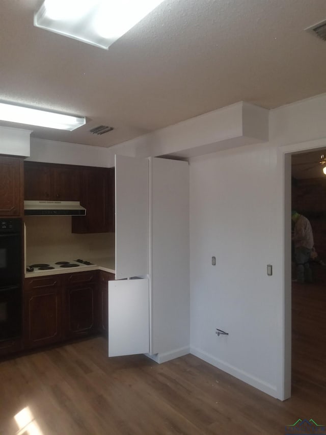
[[[148,352],[148,279],[108,282],[108,356]]]

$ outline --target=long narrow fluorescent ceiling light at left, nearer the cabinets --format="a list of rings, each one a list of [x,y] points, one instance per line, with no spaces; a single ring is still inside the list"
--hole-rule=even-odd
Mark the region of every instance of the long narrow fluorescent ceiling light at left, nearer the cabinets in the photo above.
[[[18,122],[20,124],[38,125],[50,129],[68,130],[72,132],[86,123],[85,118],[77,118],[61,113],[46,112],[40,109],[14,106],[0,103],[0,120]]]

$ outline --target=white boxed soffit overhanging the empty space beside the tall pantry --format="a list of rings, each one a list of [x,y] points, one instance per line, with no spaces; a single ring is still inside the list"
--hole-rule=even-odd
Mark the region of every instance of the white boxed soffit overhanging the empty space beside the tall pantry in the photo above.
[[[267,142],[268,121],[267,109],[241,101],[153,132],[144,137],[144,142],[152,144],[152,155],[197,157],[226,148]]]

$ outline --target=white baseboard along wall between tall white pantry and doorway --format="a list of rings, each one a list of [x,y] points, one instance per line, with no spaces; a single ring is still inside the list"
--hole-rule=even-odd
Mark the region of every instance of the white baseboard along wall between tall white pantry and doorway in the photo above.
[[[237,379],[243,380],[243,382],[249,383],[252,387],[257,388],[260,391],[268,394],[269,396],[279,398],[277,395],[277,388],[270,383],[259,379],[256,376],[251,375],[250,373],[244,372],[237,367],[231,366],[230,364],[215,358],[213,355],[204,352],[201,349],[197,349],[195,347],[190,348],[190,353],[195,356],[198,356],[201,360],[206,361],[206,363],[211,364],[218,369],[223,370],[226,373],[236,377]]]

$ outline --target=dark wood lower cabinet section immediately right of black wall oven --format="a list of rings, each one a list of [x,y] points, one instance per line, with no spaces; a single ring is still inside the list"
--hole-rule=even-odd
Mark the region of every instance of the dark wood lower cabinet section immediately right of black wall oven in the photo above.
[[[62,340],[62,285],[59,275],[28,278],[24,292],[24,347]]]

